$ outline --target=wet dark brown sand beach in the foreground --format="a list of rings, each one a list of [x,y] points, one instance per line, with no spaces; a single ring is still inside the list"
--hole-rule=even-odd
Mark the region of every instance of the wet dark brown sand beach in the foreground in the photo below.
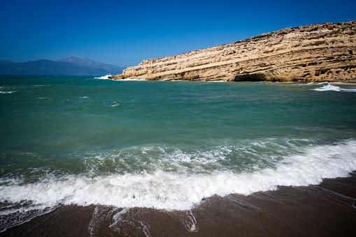
[[[188,211],[60,206],[0,236],[356,236],[356,172],[320,185],[213,196]]]

